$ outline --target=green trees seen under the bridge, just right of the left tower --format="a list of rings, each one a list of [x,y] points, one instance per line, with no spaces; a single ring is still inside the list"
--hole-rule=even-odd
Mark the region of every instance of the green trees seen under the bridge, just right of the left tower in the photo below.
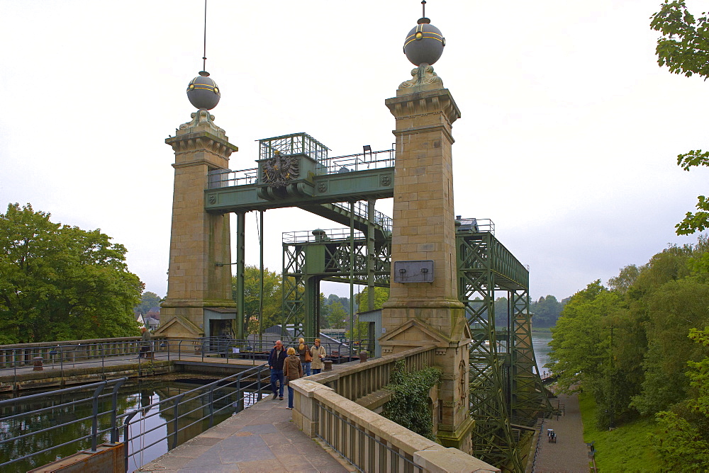
[[[236,276],[232,278],[232,297],[238,301],[239,294],[236,291]],[[244,312],[247,320],[247,332],[249,334],[259,333],[259,318],[262,322],[262,329],[281,323],[281,275],[275,271],[264,268],[264,309],[260,313],[261,296],[261,270],[258,266],[246,266],[244,268]]]

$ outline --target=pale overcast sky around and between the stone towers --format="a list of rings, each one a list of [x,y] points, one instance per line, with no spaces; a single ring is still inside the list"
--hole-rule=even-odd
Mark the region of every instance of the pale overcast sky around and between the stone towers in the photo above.
[[[529,266],[535,299],[696,241],[674,225],[707,192],[709,169],[682,171],[676,155],[709,148],[709,84],[657,66],[649,17],[660,3],[428,1],[447,44],[435,71],[462,112],[455,212],[495,222]],[[202,68],[202,8],[0,0],[0,212],[31,203],[101,229],[160,296],[174,175],[164,139],[194,111],[185,90]],[[206,69],[222,91],[216,123],[240,148],[231,169],[255,167],[255,140],[291,132],[330,156],[391,147],[384,100],[411,77],[401,48],[420,16],[418,0],[209,0]],[[266,212],[264,224],[277,271],[282,232],[337,227],[293,209]],[[252,212],[255,265],[256,226]]]

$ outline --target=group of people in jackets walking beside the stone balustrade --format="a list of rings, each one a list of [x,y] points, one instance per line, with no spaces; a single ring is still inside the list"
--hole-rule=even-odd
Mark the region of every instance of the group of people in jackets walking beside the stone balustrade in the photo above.
[[[289,347],[287,350],[283,342],[276,341],[269,353],[268,367],[271,370],[271,391],[273,399],[283,400],[283,387],[288,387],[288,407],[293,409],[293,388],[291,381],[303,376],[317,375],[325,366],[325,347],[320,345],[320,338],[316,338],[313,346],[308,346],[305,339],[298,339],[298,348]]]

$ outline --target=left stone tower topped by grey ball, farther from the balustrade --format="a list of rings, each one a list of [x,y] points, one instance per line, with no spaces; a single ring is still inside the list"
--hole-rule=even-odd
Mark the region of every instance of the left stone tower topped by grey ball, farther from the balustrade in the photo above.
[[[210,171],[228,169],[229,156],[238,148],[208,111],[218,103],[220,91],[207,72],[189,83],[187,96],[199,110],[165,140],[174,150],[175,176],[167,298],[156,334],[215,336],[235,329],[230,214],[205,212],[204,190]]]

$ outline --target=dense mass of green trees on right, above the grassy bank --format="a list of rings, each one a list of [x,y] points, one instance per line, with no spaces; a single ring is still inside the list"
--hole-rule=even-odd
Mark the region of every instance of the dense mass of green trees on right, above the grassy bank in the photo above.
[[[670,409],[693,389],[688,367],[706,349],[688,334],[709,325],[709,275],[692,262],[706,252],[703,239],[669,246],[622,268],[609,287],[594,281],[564,307],[549,367],[567,392],[593,393],[599,427]]]

